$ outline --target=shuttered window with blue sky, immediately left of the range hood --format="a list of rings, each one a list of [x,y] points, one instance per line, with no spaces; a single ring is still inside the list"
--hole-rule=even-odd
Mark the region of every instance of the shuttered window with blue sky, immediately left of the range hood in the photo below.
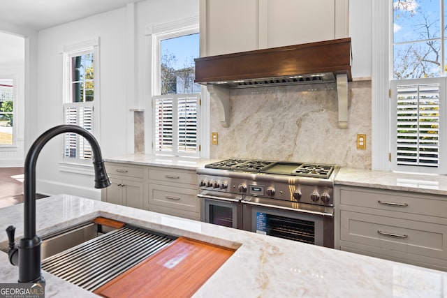
[[[201,87],[194,83],[194,59],[200,55],[198,20],[154,27],[154,31],[153,151],[200,156]]]

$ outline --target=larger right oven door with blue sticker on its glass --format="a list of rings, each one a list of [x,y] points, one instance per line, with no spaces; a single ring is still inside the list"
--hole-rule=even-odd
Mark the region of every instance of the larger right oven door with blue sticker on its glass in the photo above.
[[[334,248],[334,209],[244,197],[244,230]]]

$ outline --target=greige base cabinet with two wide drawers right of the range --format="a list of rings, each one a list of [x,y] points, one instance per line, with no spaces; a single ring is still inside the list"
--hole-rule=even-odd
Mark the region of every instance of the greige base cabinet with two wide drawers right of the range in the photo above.
[[[335,186],[335,247],[447,269],[447,198]]]

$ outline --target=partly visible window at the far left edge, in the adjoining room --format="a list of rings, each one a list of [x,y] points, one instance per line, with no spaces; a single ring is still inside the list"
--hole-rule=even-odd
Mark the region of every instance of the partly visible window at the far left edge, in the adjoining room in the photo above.
[[[14,81],[0,78],[0,146],[15,144],[14,112]]]

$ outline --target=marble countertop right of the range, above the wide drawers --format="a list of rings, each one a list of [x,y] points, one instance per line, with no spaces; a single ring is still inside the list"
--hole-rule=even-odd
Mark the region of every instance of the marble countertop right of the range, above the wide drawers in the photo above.
[[[447,195],[445,175],[406,174],[342,167],[335,176],[334,184]]]

